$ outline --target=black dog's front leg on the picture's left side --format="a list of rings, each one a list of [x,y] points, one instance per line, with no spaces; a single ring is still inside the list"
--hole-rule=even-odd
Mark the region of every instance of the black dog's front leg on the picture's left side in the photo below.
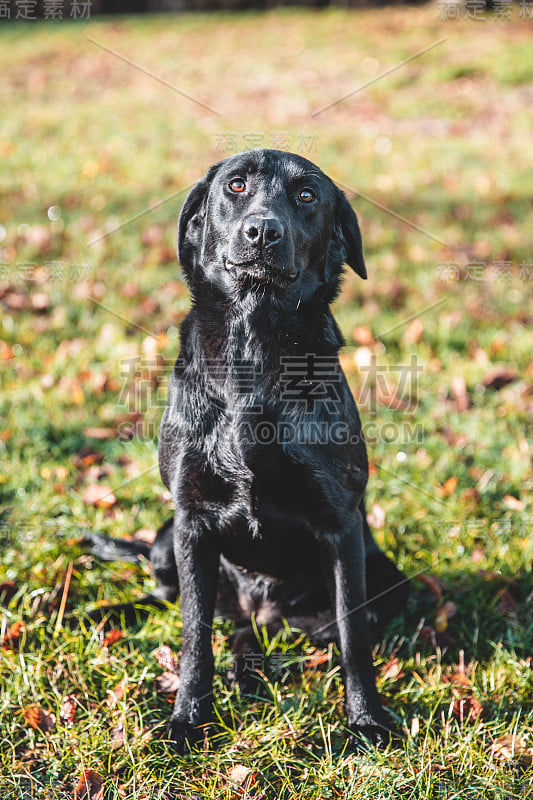
[[[213,651],[211,628],[218,579],[219,552],[176,513],[174,553],[181,588],[183,639],[180,686],[168,727],[179,753],[188,752],[211,718]]]

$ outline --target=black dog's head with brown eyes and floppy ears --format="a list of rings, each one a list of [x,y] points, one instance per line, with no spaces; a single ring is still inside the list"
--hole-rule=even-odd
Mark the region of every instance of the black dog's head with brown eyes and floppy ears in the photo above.
[[[280,150],[249,150],[209,169],[183,205],[178,258],[193,292],[207,282],[229,295],[261,286],[262,296],[301,298],[320,284],[334,294],[345,263],[366,278],[343,192],[310,161]]]

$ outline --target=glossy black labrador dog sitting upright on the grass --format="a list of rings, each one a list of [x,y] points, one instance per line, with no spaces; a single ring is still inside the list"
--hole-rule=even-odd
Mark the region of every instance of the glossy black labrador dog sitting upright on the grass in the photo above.
[[[369,623],[398,613],[408,586],[366,521],[366,448],[330,310],[343,264],[367,277],[356,215],[310,161],[250,150],[191,190],[178,256],[192,309],[159,438],[174,519],[151,548],[89,537],[103,558],[150,558],[157,589],[140,604],[181,594],[170,738],[185,752],[211,718],[213,616],[238,626],[236,677],[245,682],[255,614],[270,630],[285,618],[338,642],[350,739],[380,744],[390,724]]]

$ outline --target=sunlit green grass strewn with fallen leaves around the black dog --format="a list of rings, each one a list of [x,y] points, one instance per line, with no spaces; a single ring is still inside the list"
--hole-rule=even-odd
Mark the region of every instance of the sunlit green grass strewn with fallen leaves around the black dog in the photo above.
[[[66,798],[83,770],[102,776],[108,800],[531,796],[527,752],[502,745],[533,744],[530,25],[514,14],[480,36],[427,6],[2,26],[2,797]],[[189,303],[176,217],[230,145],[276,142],[361,192],[350,197],[370,277],[346,276],[336,316],[373,465],[369,507],[385,515],[380,545],[432,582],[415,578],[406,613],[374,636],[401,746],[343,752],[337,654],[318,669],[302,639],[265,642],[263,691],[239,696],[231,630],[217,621],[218,733],[180,759],[164,742],[154,657],[163,644],[179,653],[179,608],[109,646],[73,631],[87,604],[153,586],[147,568],[95,563],[79,540],[171,513],[156,465]],[[409,364],[418,380],[400,385]],[[491,370],[512,380],[495,388]],[[116,502],[85,502],[94,484]],[[291,674],[272,668],[276,653]],[[483,714],[454,714],[461,697]],[[34,706],[55,714],[48,732],[28,722]],[[248,788],[235,766],[255,776]]]

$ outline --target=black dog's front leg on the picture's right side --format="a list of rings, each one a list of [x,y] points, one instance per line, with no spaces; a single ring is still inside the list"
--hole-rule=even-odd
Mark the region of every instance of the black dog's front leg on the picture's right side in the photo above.
[[[376,689],[365,610],[365,548],[361,514],[324,542],[326,578],[337,619],[350,743],[360,735],[373,744],[389,739],[389,723]]]

